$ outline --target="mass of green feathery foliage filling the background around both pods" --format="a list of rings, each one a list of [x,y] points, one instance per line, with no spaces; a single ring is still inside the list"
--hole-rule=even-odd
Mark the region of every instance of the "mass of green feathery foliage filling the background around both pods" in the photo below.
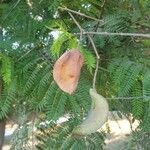
[[[17,122],[20,126],[12,142],[15,149],[21,149],[22,145],[23,148],[31,148],[25,147],[29,140],[26,134],[26,113],[29,112],[38,112],[38,117],[43,119],[37,119],[37,126],[40,126],[42,121],[48,124],[53,122],[45,128],[38,128],[37,133],[42,130],[38,135],[38,148],[103,148],[105,136],[101,133],[86,138],[71,137],[72,129],[83,121],[90,109],[89,88],[96,61],[87,35],[84,34],[82,41],[79,41],[78,34],[74,34],[79,32],[78,27],[68,12],[59,6],[103,20],[95,21],[72,12],[85,32],[150,31],[148,0],[1,0],[0,119],[15,112],[18,112],[18,118],[25,118],[25,121]],[[58,39],[52,37],[53,29],[60,31]],[[91,37],[101,58],[96,80],[98,93],[111,98],[150,96],[150,41],[143,37]],[[86,67],[82,69],[77,90],[70,96],[58,88],[53,81],[52,71],[56,59],[66,50],[77,48],[78,42]],[[13,84],[15,86],[12,86]],[[149,142],[145,142],[144,146],[142,141],[149,140],[149,98],[109,99],[109,103],[111,110],[115,109],[126,116],[132,116],[133,120],[140,121],[134,140],[137,140],[143,149],[148,149]],[[20,105],[22,112],[18,111]],[[66,114],[69,114],[70,119],[59,124],[60,117]]]

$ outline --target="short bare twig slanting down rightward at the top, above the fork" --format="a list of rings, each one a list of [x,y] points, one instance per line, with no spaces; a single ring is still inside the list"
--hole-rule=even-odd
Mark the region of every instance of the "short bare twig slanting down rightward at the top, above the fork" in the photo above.
[[[75,11],[75,10],[72,10],[72,9],[69,9],[69,8],[66,8],[66,7],[58,7],[58,8],[61,9],[61,10],[66,10],[66,11],[68,11],[68,12],[72,12],[72,13],[74,13],[74,14],[77,14],[77,15],[80,15],[80,16],[83,16],[83,17],[86,17],[86,18],[95,20],[95,21],[103,22],[103,20],[99,20],[99,19],[97,19],[97,18],[95,18],[95,17],[91,17],[91,16],[88,16],[88,15],[85,15],[85,14],[83,14],[83,13],[80,13],[80,12],[78,12],[78,11]]]

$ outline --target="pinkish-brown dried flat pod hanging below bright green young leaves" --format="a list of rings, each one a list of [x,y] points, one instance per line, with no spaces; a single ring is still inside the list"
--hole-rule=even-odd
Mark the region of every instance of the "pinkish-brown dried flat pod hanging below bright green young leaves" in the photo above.
[[[60,89],[72,94],[78,85],[84,58],[78,49],[65,52],[55,63],[53,78]]]

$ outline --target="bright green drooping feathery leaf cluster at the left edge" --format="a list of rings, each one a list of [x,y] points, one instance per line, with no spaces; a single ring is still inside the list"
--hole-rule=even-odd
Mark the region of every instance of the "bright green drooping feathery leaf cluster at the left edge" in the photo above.
[[[0,54],[0,119],[4,119],[12,109],[15,100],[15,79],[13,76],[13,65],[10,58]]]

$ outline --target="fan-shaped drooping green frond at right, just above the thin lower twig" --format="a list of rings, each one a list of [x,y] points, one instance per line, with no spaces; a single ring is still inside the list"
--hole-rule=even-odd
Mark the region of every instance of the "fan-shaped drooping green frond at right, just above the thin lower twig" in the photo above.
[[[119,96],[126,96],[131,92],[142,70],[142,65],[124,58],[115,60],[114,63],[111,62],[109,70],[112,74],[112,82],[117,87],[117,94]]]

